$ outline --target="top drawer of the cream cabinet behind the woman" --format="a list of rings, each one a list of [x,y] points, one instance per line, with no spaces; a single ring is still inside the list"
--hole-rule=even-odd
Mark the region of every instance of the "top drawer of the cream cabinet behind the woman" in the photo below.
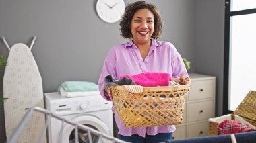
[[[197,99],[207,99],[214,97],[215,82],[213,79],[203,81],[192,81],[191,90],[189,91],[189,101]]]

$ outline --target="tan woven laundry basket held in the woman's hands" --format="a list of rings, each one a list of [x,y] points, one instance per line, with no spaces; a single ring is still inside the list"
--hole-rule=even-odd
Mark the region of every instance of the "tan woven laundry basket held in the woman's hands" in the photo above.
[[[137,86],[137,85],[130,85]],[[181,124],[190,83],[143,87],[141,93],[115,85],[110,88],[115,112],[129,128]]]

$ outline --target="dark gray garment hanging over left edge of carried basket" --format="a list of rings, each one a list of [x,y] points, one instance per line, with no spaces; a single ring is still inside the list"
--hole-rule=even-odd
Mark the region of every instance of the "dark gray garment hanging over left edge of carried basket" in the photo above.
[[[108,75],[104,79],[104,87],[109,88],[112,85],[137,85],[132,79],[123,77],[122,79],[115,80],[112,75]]]

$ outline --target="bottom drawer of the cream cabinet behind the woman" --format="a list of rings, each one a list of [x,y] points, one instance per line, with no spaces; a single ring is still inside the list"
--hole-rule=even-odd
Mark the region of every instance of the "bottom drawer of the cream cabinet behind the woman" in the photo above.
[[[187,138],[207,136],[208,128],[208,122],[190,124],[187,126]]]

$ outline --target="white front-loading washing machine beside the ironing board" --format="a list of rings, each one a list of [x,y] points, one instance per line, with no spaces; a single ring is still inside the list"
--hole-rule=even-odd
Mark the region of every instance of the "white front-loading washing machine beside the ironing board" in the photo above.
[[[113,136],[112,102],[106,101],[101,95],[85,97],[63,97],[60,93],[44,93],[47,110],[86,126],[90,126],[104,134]],[[51,117],[48,128],[49,143],[75,142],[75,126]],[[79,129],[79,143],[88,142],[88,134]],[[99,142],[99,137],[92,134],[92,141]],[[108,142],[106,139],[104,142]]]

